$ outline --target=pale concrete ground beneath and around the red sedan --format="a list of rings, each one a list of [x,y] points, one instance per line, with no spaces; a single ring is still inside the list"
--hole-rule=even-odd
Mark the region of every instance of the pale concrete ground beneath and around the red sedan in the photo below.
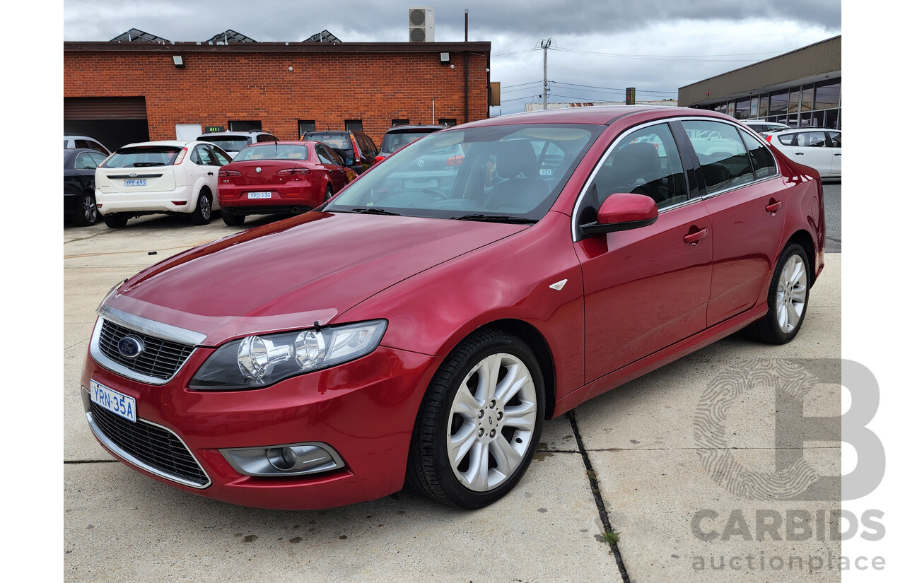
[[[795,482],[839,475],[840,445],[790,450],[783,434],[795,425],[789,398],[804,401],[799,418],[841,412],[841,254],[827,255],[793,343],[730,336],[548,422],[528,474],[500,503],[463,512],[403,491],[279,512],[186,494],[115,462],[79,396],[110,287],[236,230],[217,215],[204,227],[148,217],[64,229],[65,580],[841,580],[838,489],[817,480],[802,494]],[[607,531],[618,532],[613,546]]]

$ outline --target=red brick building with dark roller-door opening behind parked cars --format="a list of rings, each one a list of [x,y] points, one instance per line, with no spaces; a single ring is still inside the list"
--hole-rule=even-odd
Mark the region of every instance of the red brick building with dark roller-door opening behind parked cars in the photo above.
[[[490,42],[63,42],[63,129],[109,147],[195,128],[360,128],[488,117]],[[312,127],[313,126],[313,127]]]

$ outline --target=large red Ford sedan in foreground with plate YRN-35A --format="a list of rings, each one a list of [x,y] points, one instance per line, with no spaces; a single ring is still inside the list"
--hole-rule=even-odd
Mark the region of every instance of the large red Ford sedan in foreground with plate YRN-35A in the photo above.
[[[450,146],[461,165],[419,164]],[[479,508],[544,419],[741,329],[792,340],[824,236],[814,170],[721,114],[484,119],[111,290],[83,402],[110,453],[188,492],[315,509],[407,478]]]

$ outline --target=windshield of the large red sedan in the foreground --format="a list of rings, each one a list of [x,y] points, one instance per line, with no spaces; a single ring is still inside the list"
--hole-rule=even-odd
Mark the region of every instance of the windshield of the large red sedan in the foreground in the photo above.
[[[601,131],[531,124],[434,133],[374,166],[325,210],[538,221]]]

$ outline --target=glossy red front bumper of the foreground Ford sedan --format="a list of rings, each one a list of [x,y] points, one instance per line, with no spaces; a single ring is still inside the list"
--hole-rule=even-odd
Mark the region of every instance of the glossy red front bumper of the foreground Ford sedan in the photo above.
[[[81,394],[101,446],[160,482],[243,506],[313,510],[374,500],[402,488],[414,418],[440,359],[380,346],[357,361],[263,389],[188,390],[188,382],[211,353],[212,349],[196,349],[176,376],[162,385],[131,381],[101,367],[89,354]],[[159,439],[167,439],[176,449],[182,444],[186,452],[176,464],[191,465],[194,460],[201,473],[185,479],[168,470],[160,472],[142,461],[148,456],[130,454],[137,446],[111,446],[124,438],[107,435],[93,418],[98,410],[92,415],[88,392],[92,380],[135,399],[138,430],[157,431],[148,443],[155,449]],[[344,466],[312,475],[243,475],[220,451],[303,442],[329,445]]]

